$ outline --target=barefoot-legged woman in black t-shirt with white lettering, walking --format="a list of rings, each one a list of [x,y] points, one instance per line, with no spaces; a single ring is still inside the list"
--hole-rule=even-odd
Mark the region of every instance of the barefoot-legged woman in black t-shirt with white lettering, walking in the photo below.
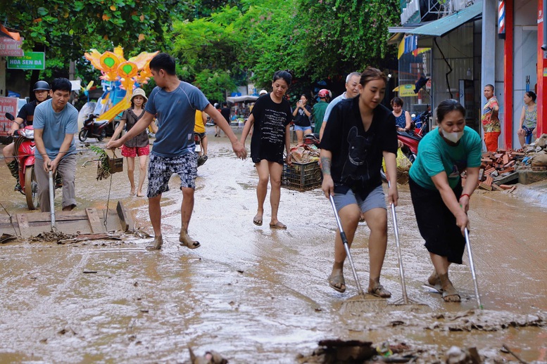
[[[273,91],[260,96],[253,106],[253,111],[245,123],[241,133],[241,143],[254,124],[251,136],[251,160],[255,163],[258,172],[256,197],[258,209],[253,218],[255,225],[261,226],[264,215],[264,201],[268,193],[268,179],[270,180],[270,204],[272,205],[272,219],[270,228],[286,229],[287,226],[277,220],[279,199],[281,196],[281,175],[283,172],[283,146],[287,150],[287,163],[290,163],[291,139],[289,124],[292,119],[291,105],[283,98],[291,84],[291,74],[287,71],[277,71],[274,74]]]

